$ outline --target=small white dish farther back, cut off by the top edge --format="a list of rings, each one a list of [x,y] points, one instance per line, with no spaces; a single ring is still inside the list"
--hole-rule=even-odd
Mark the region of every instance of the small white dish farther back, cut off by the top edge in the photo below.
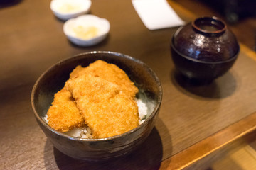
[[[50,9],[55,16],[66,21],[88,13],[91,5],[90,0],[53,0],[50,2]]]

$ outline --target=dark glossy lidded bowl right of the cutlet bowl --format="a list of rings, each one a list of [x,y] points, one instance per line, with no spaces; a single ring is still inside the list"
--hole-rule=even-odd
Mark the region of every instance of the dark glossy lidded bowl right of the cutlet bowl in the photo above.
[[[171,57],[189,79],[213,81],[233,66],[240,47],[235,35],[216,17],[197,18],[171,38]]]

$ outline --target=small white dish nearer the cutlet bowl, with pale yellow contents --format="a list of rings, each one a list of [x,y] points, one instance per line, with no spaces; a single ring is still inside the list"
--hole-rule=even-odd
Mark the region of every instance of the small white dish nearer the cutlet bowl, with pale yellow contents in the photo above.
[[[66,21],[63,31],[75,45],[87,47],[96,45],[107,37],[110,22],[94,15],[82,15]]]

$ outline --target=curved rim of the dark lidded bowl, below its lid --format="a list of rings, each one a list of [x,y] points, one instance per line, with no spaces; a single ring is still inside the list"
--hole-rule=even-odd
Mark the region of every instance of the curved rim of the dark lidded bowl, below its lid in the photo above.
[[[238,52],[235,53],[235,55],[233,55],[232,57],[228,58],[228,60],[223,60],[223,61],[217,61],[217,62],[209,62],[209,61],[204,61],[204,60],[198,60],[192,57],[188,57],[186,55],[183,55],[181,52],[179,52],[176,47],[174,47],[174,35],[171,38],[171,48],[178,53],[178,55],[181,55],[182,57],[186,58],[187,60],[191,60],[193,62],[200,62],[202,64],[221,64],[221,63],[225,63],[225,62],[230,62],[232,60],[235,60],[238,57],[238,54],[240,52],[240,45],[238,45]]]

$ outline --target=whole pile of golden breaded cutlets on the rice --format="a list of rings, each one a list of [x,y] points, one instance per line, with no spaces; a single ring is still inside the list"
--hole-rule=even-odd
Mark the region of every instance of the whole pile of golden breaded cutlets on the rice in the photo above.
[[[48,125],[61,132],[88,126],[94,138],[122,134],[139,124],[138,91],[114,64],[97,60],[88,67],[78,65],[55,94]]]

